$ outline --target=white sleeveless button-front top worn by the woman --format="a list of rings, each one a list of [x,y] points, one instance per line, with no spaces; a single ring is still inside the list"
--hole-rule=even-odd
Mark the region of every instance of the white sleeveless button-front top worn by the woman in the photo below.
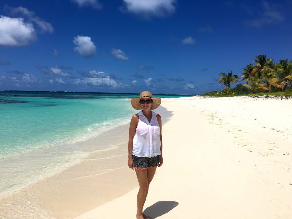
[[[138,113],[139,122],[133,139],[133,155],[137,157],[155,157],[160,155],[160,128],[156,118],[157,113],[152,111],[149,122],[143,112]]]

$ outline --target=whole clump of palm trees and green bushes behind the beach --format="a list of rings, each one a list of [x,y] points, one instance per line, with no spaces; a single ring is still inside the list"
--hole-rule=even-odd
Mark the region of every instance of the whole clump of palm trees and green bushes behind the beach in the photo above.
[[[245,81],[243,85],[230,88],[233,83],[238,83],[238,76],[232,75],[232,71],[220,73],[219,85],[223,83],[226,88],[204,93],[203,96],[292,96],[292,61],[281,59],[279,63],[273,63],[267,55],[257,55],[253,61],[255,64],[247,65],[240,73],[241,81]]]

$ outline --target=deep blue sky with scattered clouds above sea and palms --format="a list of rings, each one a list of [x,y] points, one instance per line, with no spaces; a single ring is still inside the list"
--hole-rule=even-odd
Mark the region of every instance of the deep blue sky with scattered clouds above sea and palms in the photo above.
[[[0,89],[201,94],[292,60],[292,0],[1,0]]]

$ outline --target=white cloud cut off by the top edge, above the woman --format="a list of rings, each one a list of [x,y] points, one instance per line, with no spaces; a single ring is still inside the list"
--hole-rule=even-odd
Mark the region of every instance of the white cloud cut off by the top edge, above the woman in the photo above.
[[[123,0],[122,11],[128,11],[144,18],[164,17],[175,12],[176,0]]]

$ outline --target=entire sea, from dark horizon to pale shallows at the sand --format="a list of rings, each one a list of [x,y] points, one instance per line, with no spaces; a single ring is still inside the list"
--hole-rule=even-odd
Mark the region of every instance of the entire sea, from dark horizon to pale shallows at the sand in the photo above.
[[[128,123],[137,96],[0,91],[0,195],[80,161],[88,151],[77,143]]]

